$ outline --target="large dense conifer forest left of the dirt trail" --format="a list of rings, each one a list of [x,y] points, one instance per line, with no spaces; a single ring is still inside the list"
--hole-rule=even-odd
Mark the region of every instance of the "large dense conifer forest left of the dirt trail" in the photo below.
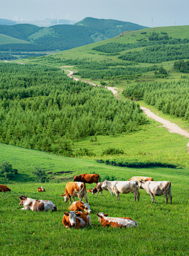
[[[2,63],[0,72],[3,143],[71,156],[74,139],[128,132],[146,122],[139,104],[75,82],[61,70]]]

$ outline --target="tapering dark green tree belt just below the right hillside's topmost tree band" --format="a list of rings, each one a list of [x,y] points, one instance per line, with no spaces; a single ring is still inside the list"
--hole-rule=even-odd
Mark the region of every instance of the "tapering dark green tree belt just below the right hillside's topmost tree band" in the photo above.
[[[189,58],[189,44],[146,47],[143,51],[129,51],[118,58],[146,63],[161,63]]]

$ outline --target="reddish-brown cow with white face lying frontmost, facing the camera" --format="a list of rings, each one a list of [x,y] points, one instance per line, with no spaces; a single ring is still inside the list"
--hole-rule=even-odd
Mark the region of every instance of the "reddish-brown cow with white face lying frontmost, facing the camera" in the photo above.
[[[83,228],[86,225],[91,226],[91,217],[88,213],[67,212],[64,213],[62,224],[65,228]]]

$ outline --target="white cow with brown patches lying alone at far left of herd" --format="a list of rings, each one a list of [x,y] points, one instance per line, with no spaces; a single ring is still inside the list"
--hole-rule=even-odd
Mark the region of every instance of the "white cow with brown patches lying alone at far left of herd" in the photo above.
[[[20,196],[20,204],[19,205],[24,205],[25,210],[31,210],[34,212],[41,212],[45,210],[46,212],[48,210],[52,210],[53,212],[57,211],[57,206],[54,205],[52,201],[47,201],[47,200],[35,200],[31,198],[27,198],[25,196]]]

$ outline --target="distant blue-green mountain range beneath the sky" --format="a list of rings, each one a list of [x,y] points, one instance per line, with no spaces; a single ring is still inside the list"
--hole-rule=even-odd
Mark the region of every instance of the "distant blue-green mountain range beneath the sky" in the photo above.
[[[2,24],[0,34],[4,37],[1,40],[0,35],[0,51],[9,51],[10,47],[12,51],[64,51],[107,40],[124,31],[143,28],[146,27],[131,22],[92,17],[87,17],[76,24],[55,24],[50,27],[39,27],[34,24]],[[23,42],[13,43],[13,38]]]

